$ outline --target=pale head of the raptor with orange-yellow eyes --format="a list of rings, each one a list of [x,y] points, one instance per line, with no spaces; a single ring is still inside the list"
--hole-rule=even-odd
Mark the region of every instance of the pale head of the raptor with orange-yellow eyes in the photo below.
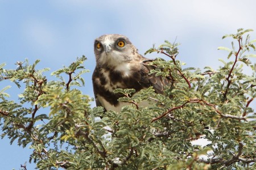
[[[132,60],[136,52],[135,46],[123,35],[103,35],[94,41],[94,54],[100,67],[116,67]]]

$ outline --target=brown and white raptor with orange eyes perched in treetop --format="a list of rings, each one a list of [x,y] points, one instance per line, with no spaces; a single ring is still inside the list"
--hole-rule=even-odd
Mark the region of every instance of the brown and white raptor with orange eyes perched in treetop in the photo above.
[[[94,41],[96,67],[93,72],[93,91],[96,105],[116,112],[127,103],[119,102],[121,94],[114,94],[116,88],[134,88],[136,92],[152,86],[156,93],[170,79],[149,74],[156,66],[148,65],[147,59],[138,53],[137,48],[123,35],[102,35]]]

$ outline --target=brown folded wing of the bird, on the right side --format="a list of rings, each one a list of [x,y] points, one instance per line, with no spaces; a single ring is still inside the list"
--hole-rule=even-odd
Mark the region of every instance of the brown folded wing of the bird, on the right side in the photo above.
[[[164,87],[170,84],[171,78],[162,76],[155,76],[155,74],[149,74],[150,70],[156,69],[156,65],[150,65],[154,61],[153,59],[144,59],[142,62],[142,78],[141,81],[149,82],[150,85],[154,88],[155,92],[158,94],[163,94]]]

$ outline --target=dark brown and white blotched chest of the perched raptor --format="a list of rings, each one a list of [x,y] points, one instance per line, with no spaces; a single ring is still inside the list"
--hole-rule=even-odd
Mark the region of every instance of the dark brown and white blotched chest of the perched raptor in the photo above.
[[[101,101],[104,99],[109,104],[118,106],[119,97],[122,94],[115,94],[113,91],[116,88],[134,88],[136,91],[141,90],[145,87],[145,84],[141,84],[143,74],[141,70],[136,69],[109,69],[98,68],[93,73],[93,88],[94,94],[97,100]],[[105,107],[105,106],[104,106]],[[105,107],[106,108],[106,107]]]

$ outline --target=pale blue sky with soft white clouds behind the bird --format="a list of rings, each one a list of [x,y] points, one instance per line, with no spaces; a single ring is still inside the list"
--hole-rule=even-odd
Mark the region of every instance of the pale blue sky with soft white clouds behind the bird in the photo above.
[[[6,69],[15,69],[17,61],[27,58],[33,63],[40,59],[37,69],[49,67],[49,76],[85,55],[85,67],[91,72],[84,74],[86,84],[81,89],[93,97],[93,43],[97,37],[126,35],[141,54],[152,44],[176,40],[181,43],[177,59],[187,63],[184,67],[217,69],[221,64],[218,58],[228,55],[217,50],[218,46],[231,48],[232,39],[222,40],[223,35],[251,28],[255,30],[250,33],[251,39],[256,39],[255,6],[253,0],[0,0],[0,63],[6,63]],[[146,57],[164,58],[156,53]],[[251,61],[255,63],[256,59]],[[0,90],[7,85],[12,86],[6,91],[11,99],[18,100],[15,84],[0,82]],[[27,169],[34,169],[35,164],[28,164],[32,150],[9,142],[8,138],[0,139],[1,169],[19,169],[25,162]]]

